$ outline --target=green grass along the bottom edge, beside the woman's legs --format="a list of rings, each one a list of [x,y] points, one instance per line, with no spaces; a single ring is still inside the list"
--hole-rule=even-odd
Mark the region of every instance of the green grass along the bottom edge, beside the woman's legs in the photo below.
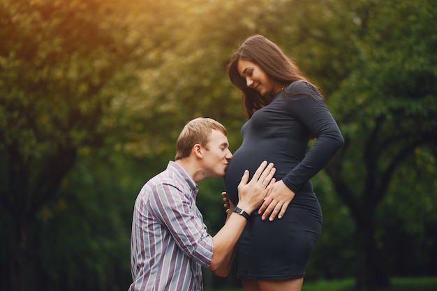
[[[305,282],[302,291],[354,291],[353,279]],[[392,278],[390,288],[369,291],[436,291],[437,277]],[[242,291],[242,288],[206,289],[205,291]]]

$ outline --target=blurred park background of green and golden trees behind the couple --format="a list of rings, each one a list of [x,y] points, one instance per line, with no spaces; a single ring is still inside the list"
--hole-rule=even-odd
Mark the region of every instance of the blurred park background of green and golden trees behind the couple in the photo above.
[[[434,0],[0,0],[1,290],[127,290],[133,203],[179,130],[207,116],[242,142],[225,68],[255,33],[320,85],[345,139],[312,180],[305,284],[435,278],[436,27]],[[211,234],[221,191],[200,184]],[[240,290],[234,274],[205,286]]]

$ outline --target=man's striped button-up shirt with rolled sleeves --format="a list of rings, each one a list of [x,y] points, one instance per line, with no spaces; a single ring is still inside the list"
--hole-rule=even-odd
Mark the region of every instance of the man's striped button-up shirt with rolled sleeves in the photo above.
[[[147,181],[135,201],[129,291],[201,291],[213,242],[195,205],[198,185],[177,163]]]

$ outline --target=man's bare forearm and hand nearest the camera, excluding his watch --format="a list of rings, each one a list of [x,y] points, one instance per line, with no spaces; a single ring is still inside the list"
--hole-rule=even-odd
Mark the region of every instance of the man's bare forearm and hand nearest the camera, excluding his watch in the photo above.
[[[243,209],[249,215],[255,211],[267,194],[266,187],[272,181],[275,170],[272,163],[267,165],[267,162],[263,162],[253,174],[253,178],[249,183],[247,183],[249,171],[244,171],[242,180],[238,185],[239,202],[237,207]],[[235,213],[232,205],[231,207],[225,225],[212,238],[214,251],[209,269],[217,276],[223,277],[228,276],[237,241],[247,223],[247,219]]]

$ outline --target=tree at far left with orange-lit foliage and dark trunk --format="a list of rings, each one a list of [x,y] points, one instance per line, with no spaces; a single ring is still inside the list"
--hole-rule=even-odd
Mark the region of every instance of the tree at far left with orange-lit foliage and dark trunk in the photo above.
[[[132,51],[120,41],[121,11],[100,0],[0,2],[3,289],[38,288],[38,211],[77,151],[102,143],[98,126],[114,94],[103,88]]]

